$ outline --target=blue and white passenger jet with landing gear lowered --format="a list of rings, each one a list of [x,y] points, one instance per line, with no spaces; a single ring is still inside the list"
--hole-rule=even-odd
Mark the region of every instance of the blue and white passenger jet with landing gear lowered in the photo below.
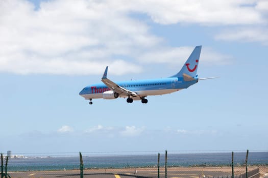
[[[201,48],[202,46],[196,46],[182,69],[177,74],[167,78],[113,82],[107,78],[107,66],[102,77],[103,83],[88,85],[83,88],[79,95],[90,100],[90,105],[93,104],[92,99],[109,100],[118,97],[127,98],[128,103],[132,103],[133,100],[141,100],[141,103],[146,104],[148,96],[170,94],[188,88],[199,80],[217,78],[198,78],[197,69]]]

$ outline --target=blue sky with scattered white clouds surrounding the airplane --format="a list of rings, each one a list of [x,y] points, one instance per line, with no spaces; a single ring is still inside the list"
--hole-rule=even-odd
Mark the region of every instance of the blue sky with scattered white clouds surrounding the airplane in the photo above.
[[[0,152],[268,151],[268,1],[0,0]],[[189,88],[126,99],[100,83],[176,74]]]

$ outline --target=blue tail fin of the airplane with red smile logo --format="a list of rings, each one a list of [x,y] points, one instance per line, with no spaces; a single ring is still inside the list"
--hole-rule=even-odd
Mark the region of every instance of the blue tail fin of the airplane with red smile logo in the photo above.
[[[196,46],[196,48],[193,49],[188,60],[183,65],[180,72],[178,72],[176,75],[173,75],[172,77],[183,77],[187,78],[188,81],[191,80],[190,77],[191,78],[196,77],[201,48],[202,46]]]

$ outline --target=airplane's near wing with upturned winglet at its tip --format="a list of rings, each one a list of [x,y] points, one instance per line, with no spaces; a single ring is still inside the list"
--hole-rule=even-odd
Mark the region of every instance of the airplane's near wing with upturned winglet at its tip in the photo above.
[[[124,87],[119,86],[118,84],[114,83],[110,79],[107,78],[107,72],[108,72],[108,66],[105,69],[105,72],[102,77],[102,82],[108,86],[112,91],[118,93],[120,96],[132,96],[132,97],[138,97],[138,95],[135,92],[132,92],[130,90],[127,90]]]

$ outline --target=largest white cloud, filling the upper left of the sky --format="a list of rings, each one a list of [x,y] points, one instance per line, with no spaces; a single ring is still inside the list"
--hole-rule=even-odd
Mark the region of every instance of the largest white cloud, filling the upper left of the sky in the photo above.
[[[144,23],[109,6],[56,0],[35,11],[27,1],[1,1],[0,71],[87,75],[110,65],[113,74],[141,72],[135,62],[114,55],[132,56],[161,40]]]

